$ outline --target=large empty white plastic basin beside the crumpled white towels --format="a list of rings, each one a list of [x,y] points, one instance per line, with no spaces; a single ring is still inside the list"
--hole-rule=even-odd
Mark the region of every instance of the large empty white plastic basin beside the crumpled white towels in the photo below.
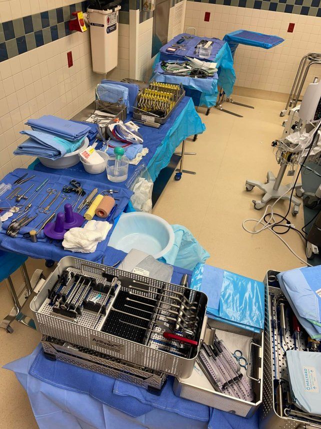
[[[141,250],[158,259],[174,244],[171,226],[155,215],[139,211],[123,213],[113,230],[108,246],[128,253]]]

